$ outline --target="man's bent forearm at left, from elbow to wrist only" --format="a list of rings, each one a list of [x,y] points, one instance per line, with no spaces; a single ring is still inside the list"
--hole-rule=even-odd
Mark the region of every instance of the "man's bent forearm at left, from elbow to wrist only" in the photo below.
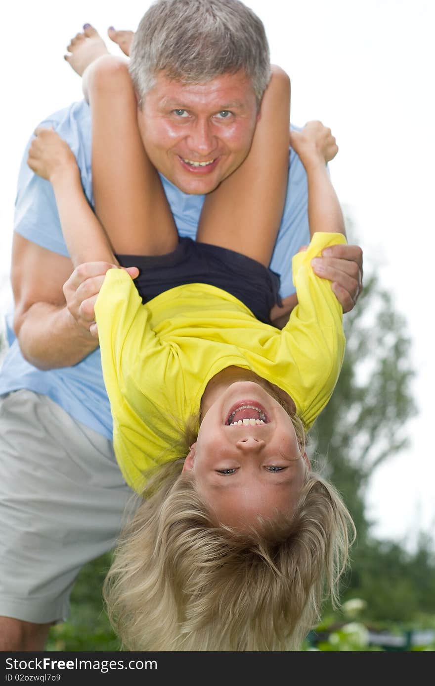
[[[73,366],[98,346],[66,307],[49,303],[29,307],[17,338],[27,362],[42,370]]]

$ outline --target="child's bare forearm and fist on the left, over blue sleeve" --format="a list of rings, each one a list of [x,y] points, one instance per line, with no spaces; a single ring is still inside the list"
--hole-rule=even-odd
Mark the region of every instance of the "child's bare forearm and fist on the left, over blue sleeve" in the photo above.
[[[39,128],[35,133],[27,164],[53,186],[62,232],[74,267],[95,261],[117,266],[109,239],[86,200],[79,168],[69,145],[52,129]]]

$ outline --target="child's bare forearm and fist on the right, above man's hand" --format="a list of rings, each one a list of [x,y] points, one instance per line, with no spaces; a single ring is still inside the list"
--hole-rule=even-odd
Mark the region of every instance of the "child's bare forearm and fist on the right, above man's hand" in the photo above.
[[[338,152],[331,130],[320,121],[309,121],[301,131],[291,132],[290,143],[307,173],[310,236],[317,231],[346,235],[343,212],[326,169]]]

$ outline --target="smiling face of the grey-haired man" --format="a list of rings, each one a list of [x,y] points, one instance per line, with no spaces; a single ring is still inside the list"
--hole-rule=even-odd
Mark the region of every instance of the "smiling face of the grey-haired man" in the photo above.
[[[154,167],[184,193],[210,193],[245,160],[258,107],[244,71],[205,84],[158,75],[138,115]]]

